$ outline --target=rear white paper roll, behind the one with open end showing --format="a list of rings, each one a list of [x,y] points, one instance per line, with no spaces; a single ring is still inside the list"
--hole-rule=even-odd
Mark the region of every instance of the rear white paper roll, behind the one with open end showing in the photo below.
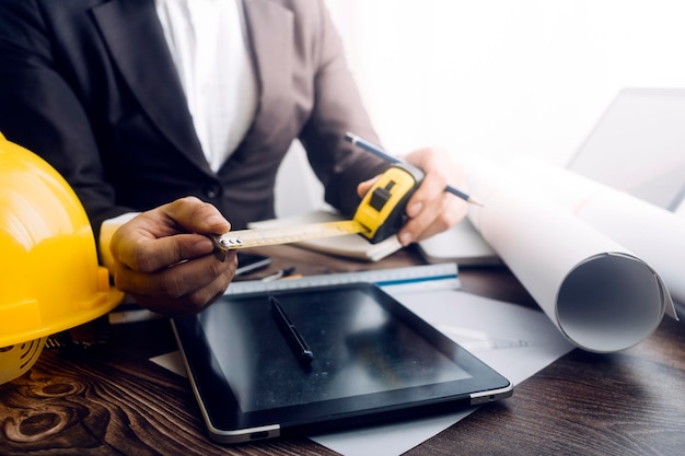
[[[568,169],[516,157],[510,169],[564,209],[649,262],[685,303],[685,218]]]

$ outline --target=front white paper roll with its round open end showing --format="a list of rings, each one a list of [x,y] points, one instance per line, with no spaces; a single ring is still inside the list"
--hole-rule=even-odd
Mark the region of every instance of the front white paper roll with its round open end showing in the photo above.
[[[469,220],[572,343],[614,352],[654,331],[673,303],[650,265],[498,165],[464,168],[484,202]]]

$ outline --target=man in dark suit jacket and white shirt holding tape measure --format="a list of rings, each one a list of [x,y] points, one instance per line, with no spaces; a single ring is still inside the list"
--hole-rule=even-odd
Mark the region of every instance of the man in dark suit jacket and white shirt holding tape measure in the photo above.
[[[387,166],[344,141],[378,138],[323,0],[0,0],[0,131],[65,176],[116,285],[162,312],[225,290],[235,258],[201,234],[275,215],[293,140],[345,213]],[[465,212],[446,154],[406,159],[427,178],[404,244]]]

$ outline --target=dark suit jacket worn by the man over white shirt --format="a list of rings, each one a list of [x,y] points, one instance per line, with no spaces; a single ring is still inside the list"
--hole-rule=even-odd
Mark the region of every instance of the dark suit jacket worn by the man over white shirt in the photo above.
[[[153,0],[0,0],[0,131],[71,184],[103,220],[195,195],[232,222],[274,217],[276,172],[294,139],[351,212],[386,165],[344,141],[376,140],[320,0],[245,0],[259,102],[218,173],[195,133]]]

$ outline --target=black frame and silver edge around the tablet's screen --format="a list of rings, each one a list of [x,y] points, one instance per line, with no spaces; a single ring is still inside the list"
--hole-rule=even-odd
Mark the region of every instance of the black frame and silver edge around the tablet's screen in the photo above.
[[[211,342],[205,337],[198,316],[178,317],[172,326],[188,377],[200,406],[210,437],[219,443],[242,443],[291,434],[312,434],[340,428],[400,420],[428,413],[453,411],[474,404],[511,396],[513,385],[495,370],[419,318],[398,301],[371,283],[349,283],[304,290],[224,295],[221,302],[252,301],[269,295],[287,297],[355,289],[371,296],[393,318],[410,327],[429,344],[464,369],[469,378],[392,389],[304,405],[243,411],[227,378],[217,369]],[[236,367],[240,369],[240,367]]]

